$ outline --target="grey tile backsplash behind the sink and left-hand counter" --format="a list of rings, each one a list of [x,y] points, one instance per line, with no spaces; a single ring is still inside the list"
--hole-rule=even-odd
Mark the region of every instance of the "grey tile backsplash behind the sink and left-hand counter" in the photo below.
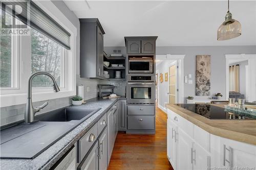
[[[96,79],[80,78],[79,75],[77,75],[77,85],[80,85],[80,84],[83,84],[83,86],[84,86],[84,100],[89,100],[89,99],[97,97],[98,84],[115,85],[116,88],[114,89],[114,92],[118,95],[125,95],[125,86],[126,86],[125,81],[124,82],[101,81],[101,80],[96,80]],[[87,91],[87,87],[90,88],[90,91]],[[37,106],[44,104],[45,102],[49,103],[48,106],[46,106],[40,112],[37,112],[36,115],[48,112],[50,110],[69,106],[72,104],[71,97],[67,97],[67,98],[59,98],[59,99],[53,99],[53,100],[47,100],[47,101],[33,102],[33,106],[37,107]],[[26,106],[26,104],[21,104],[21,105],[0,108],[1,109],[0,126],[4,126],[7,124],[17,122],[19,120],[23,120],[24,113],[25,113],[25,106]]]

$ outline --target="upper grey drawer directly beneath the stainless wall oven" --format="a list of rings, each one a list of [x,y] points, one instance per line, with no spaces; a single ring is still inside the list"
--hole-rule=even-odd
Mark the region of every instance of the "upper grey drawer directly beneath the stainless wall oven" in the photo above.
[[[155,105],[127,105],[128,115],[155,115]]]

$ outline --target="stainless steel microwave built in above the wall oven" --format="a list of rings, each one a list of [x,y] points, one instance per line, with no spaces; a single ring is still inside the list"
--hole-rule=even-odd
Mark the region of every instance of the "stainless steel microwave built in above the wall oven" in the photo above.
[[[130,58],[128,61],[128,73],[153,73],[153,59]]]

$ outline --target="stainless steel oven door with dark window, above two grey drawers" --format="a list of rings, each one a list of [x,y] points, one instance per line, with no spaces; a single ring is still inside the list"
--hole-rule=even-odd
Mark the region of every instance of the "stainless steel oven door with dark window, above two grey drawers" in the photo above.
[[[126,86],[127,104],[155,104],[156,84],[128,82]]]

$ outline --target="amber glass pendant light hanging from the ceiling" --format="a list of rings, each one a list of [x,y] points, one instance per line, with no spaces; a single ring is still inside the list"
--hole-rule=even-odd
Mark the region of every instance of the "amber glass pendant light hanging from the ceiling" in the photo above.
[[[217,32],[217,40],[228,40],[236,38],[241,35],[241,23],[236,19],[232,19],[232,14],[229,12],[229,0],[228,10],[225,16],[225,21],[219,27]]]

